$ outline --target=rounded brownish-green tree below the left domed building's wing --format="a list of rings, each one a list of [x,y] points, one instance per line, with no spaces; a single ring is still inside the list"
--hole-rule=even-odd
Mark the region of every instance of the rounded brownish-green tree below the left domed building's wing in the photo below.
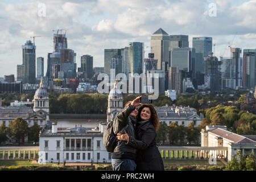
[[[16,140],[16,142],[24,142],[28,131],[28,124],[22,118],[15,118],[9,123],[8,135]]]

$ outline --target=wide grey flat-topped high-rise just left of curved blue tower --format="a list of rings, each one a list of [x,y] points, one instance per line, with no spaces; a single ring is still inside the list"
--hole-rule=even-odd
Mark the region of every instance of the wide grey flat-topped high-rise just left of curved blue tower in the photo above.
[[[121,49],[104,49],[104,73],[110,75],[113,56],[121,56]]]

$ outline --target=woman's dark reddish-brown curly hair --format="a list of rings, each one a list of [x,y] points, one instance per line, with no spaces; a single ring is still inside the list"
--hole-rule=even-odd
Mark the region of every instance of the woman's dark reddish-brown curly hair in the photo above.
[[[152,104],[143,104],[141,107],[139,107],[139,113],[138,113],[138,116],[137,116],[137,120],[138,121],[142,121],[141,119],[141,111],[144,107],[148,107],[151,111],[151,117],[150,117],[150,122],[154,125],[155,127],[155,130],[158,130],[159,128],[159,119],[158,119],[158,114],[156,114],[156,110],[155,110],[155,107],[154,105]]]

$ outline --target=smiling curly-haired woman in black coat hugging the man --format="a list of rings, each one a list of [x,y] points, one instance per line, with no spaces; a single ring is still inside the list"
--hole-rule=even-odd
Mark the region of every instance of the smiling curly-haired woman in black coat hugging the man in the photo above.
[[[125,140],[126,144],[137,148],[137,171],[163,171],[163,159],[156,146],[156,130],[159,119],[152,104],[143,104],[139,108],[137,124],[135,127],[136,138],[125,134],[117,134],[117,139]]]

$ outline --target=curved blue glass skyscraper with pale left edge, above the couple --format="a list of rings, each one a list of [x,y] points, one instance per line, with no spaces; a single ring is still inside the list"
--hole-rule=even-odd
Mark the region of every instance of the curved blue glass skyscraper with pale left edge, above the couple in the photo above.
[[[142,73],[142,61],[144,60],[144,43],[129,43],[129,66],[130,73]]]

